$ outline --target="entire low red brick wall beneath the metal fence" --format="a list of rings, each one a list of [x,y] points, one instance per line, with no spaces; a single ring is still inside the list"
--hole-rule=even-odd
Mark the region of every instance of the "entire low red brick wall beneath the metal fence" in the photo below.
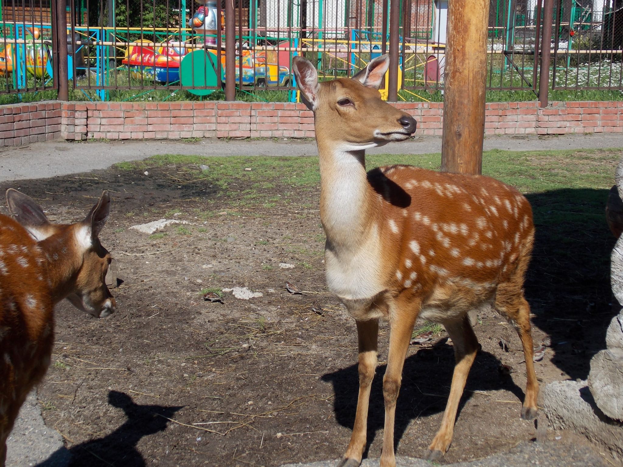
[[[442,103],[394,104],[440,135]],[[313,138],[313,115],[283,102],[47,102],[0,108],[0,146],[64,139]],[[485,134],[623,132],[623,101],[488,103]]]

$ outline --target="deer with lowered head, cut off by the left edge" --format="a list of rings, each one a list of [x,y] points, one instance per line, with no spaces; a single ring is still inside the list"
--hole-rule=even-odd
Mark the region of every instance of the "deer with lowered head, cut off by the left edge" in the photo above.
[[[6,199],[17,221],[0,214],[0,467],[19,408],[50,364],[54,305],[67,298],[96,317],[116,306],[105,283],[110,253],[98,239],[110,212],[108,192],[70,225],[50,223],[17,190]]]

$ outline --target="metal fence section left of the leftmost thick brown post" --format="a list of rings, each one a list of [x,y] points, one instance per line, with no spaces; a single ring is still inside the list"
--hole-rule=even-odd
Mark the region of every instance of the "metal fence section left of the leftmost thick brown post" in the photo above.
[[[21,100],[21,93],[53,98],[52,3],[49,0],[2,1],[0,19],[0,94],[3,103]],[[36,98],[29,95],[28,100]]]

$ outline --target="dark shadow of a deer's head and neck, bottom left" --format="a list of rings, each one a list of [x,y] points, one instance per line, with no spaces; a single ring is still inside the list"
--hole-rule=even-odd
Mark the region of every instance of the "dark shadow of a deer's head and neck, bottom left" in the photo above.
[[[36,467],[67,465],[68,457],[70,467],[145,467],[145,459],[136,449],[138,441],[143,436],[163,432],[169,422],[167,419],[183,407],[139,405],[129,395],[118,391],[108,393],[108,403],[123,409],[128,418],[123,425],[103,438],[85,441],[69,449],[61,448]]]

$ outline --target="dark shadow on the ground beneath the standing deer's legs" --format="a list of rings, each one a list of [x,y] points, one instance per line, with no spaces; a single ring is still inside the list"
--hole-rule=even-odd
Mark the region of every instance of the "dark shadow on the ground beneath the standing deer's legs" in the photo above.
[[[384,426],[383,375],[386,367],[383,365],[377,368],[370,392],[368,434],[364,458],[368,456],[368,450],[376,433],[382,430]],[[518,400],[523,401],[523,390],[513,382],[510,375],[501,374],[499,368],[500,361],[497,357],[489,352],[478,352],[459,403],[457,417],[459,417],[465,403],[472,397],[472,391],[475,390],[508,390],[515,394]],[[402,370],[402,385],[396,403],[394,448],[397,448],[399,440],[401,440],[412,420],[444,412],[453,371],[454,350],[452,346],[444,343],[433,347],[422,347],[416,354],[407,357]],[[434,375],[434,377],[421,378],[418,375]],[[333,391],[335,392],[333,412],[336,421],[343,427],[352,430],[359,390],[357,364],[325,374],[322,380],[333,384]]]

